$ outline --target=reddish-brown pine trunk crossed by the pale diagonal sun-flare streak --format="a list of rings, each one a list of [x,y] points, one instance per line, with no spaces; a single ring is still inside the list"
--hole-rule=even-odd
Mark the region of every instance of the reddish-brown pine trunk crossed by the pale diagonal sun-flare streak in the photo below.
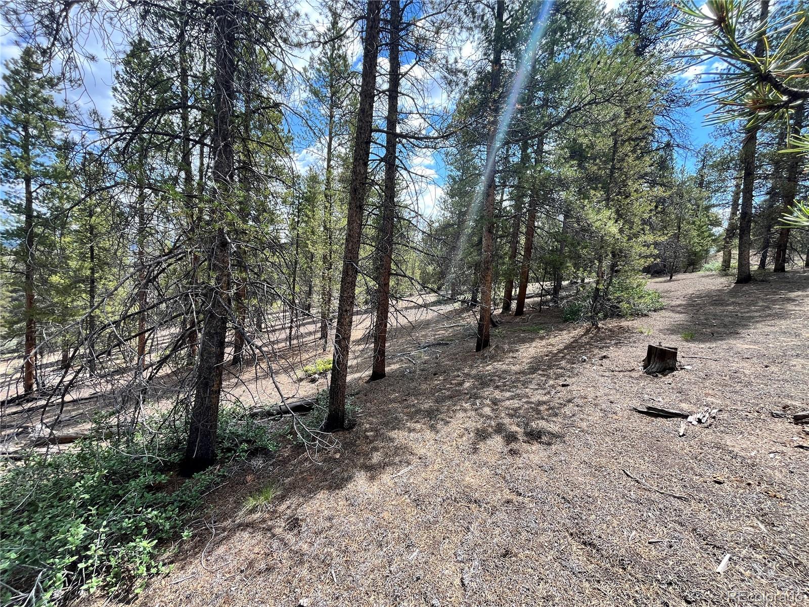
[[[494,50],[492,59],[492,79],[489,87],[491,96],[491,117],[489,119],[489,141],[486,143],[486,183],[483,205],[483,240],[481,243],[481,309],[477,320],[477,342],[475,351],[489,347],[489,330],[492,320],[492,265],[494,256],[494,169],[497,164],[498,102],[502,72],[502,32],[505,0],[498,0],[497,14],[494,17]]]

